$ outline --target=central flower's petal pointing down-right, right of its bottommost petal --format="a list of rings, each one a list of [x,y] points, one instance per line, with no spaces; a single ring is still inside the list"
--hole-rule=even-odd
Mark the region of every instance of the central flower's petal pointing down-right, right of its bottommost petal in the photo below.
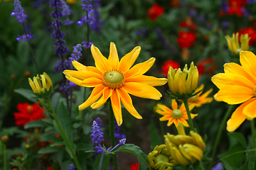
[[[120,99],[122,104],[124,105],[124,108],[131,113],[135,118],[142,119],[142,116],[139,115],[139,113],[136,111],[132,104],[132,98],[127,94],[127,91],[125,91],[123,88],[117,89],[117,92],[119,93]]]

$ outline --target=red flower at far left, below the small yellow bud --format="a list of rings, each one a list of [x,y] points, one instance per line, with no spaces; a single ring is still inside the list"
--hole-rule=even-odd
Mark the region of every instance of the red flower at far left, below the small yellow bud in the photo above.
[[[45,115],[42,115],[44,108],[39,107],[37,103],[33,103],[33,105],[18,103],[17,108],[20,112],[14,113],[16,125],[26,125],[30,121],[46,118]]]

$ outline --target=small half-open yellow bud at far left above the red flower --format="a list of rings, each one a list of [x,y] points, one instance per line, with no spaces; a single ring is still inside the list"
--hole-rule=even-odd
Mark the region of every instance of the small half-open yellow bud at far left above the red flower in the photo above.
[[[31,78],[28,78],[28,81],[35,94],[44,94],[50,91],[50,89],[53,87],[53,82],[45,72],[41,74],[40,77],[37,74],[36,77],[33,77],[33,81]]]

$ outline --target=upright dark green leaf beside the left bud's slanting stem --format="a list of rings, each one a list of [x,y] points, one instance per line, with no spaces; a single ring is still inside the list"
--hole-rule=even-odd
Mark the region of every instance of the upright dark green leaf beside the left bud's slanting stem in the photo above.
[[[63,130],[65,132],[65,135],[67,135],[68,140],[75,152],[75,144],[73,142],[73,123],[72,123],[70,113],[68,112],[68,109],[65,107],[63,102],[60,103],[60,108],[58,109],[58,112],[56,115],[57,115],[58,120],[60,121],[61,127],[63,128]],[[59,131],[60,130],[58,130],[58,132]],[[60,133],[60,135],[63,137],[63,134]],[[64,139],[64,137],[63,137],[63,139]],[[68,145],[66,145],[66,146],[68,146]],[[66,147],[66,148],[68,148],[68,147]],[[70,157],[72,157],[70,149],[67,149],[67,151],[70,154]]]

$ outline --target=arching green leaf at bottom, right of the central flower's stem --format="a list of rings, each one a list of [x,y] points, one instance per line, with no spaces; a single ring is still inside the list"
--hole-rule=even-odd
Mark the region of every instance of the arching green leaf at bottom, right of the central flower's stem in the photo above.
[[[128,152],[128,153],[132,153],[135,156],[137,156],[139,159],[142,159],[142,161],[149,166],[149,160],[146,158],[146,154],[144,154],[142,152],[142,150],[134,145],[134,144],[125,144],[122,145],[121,147],[119,147],[117,150],[115,150],[114,152]]]

